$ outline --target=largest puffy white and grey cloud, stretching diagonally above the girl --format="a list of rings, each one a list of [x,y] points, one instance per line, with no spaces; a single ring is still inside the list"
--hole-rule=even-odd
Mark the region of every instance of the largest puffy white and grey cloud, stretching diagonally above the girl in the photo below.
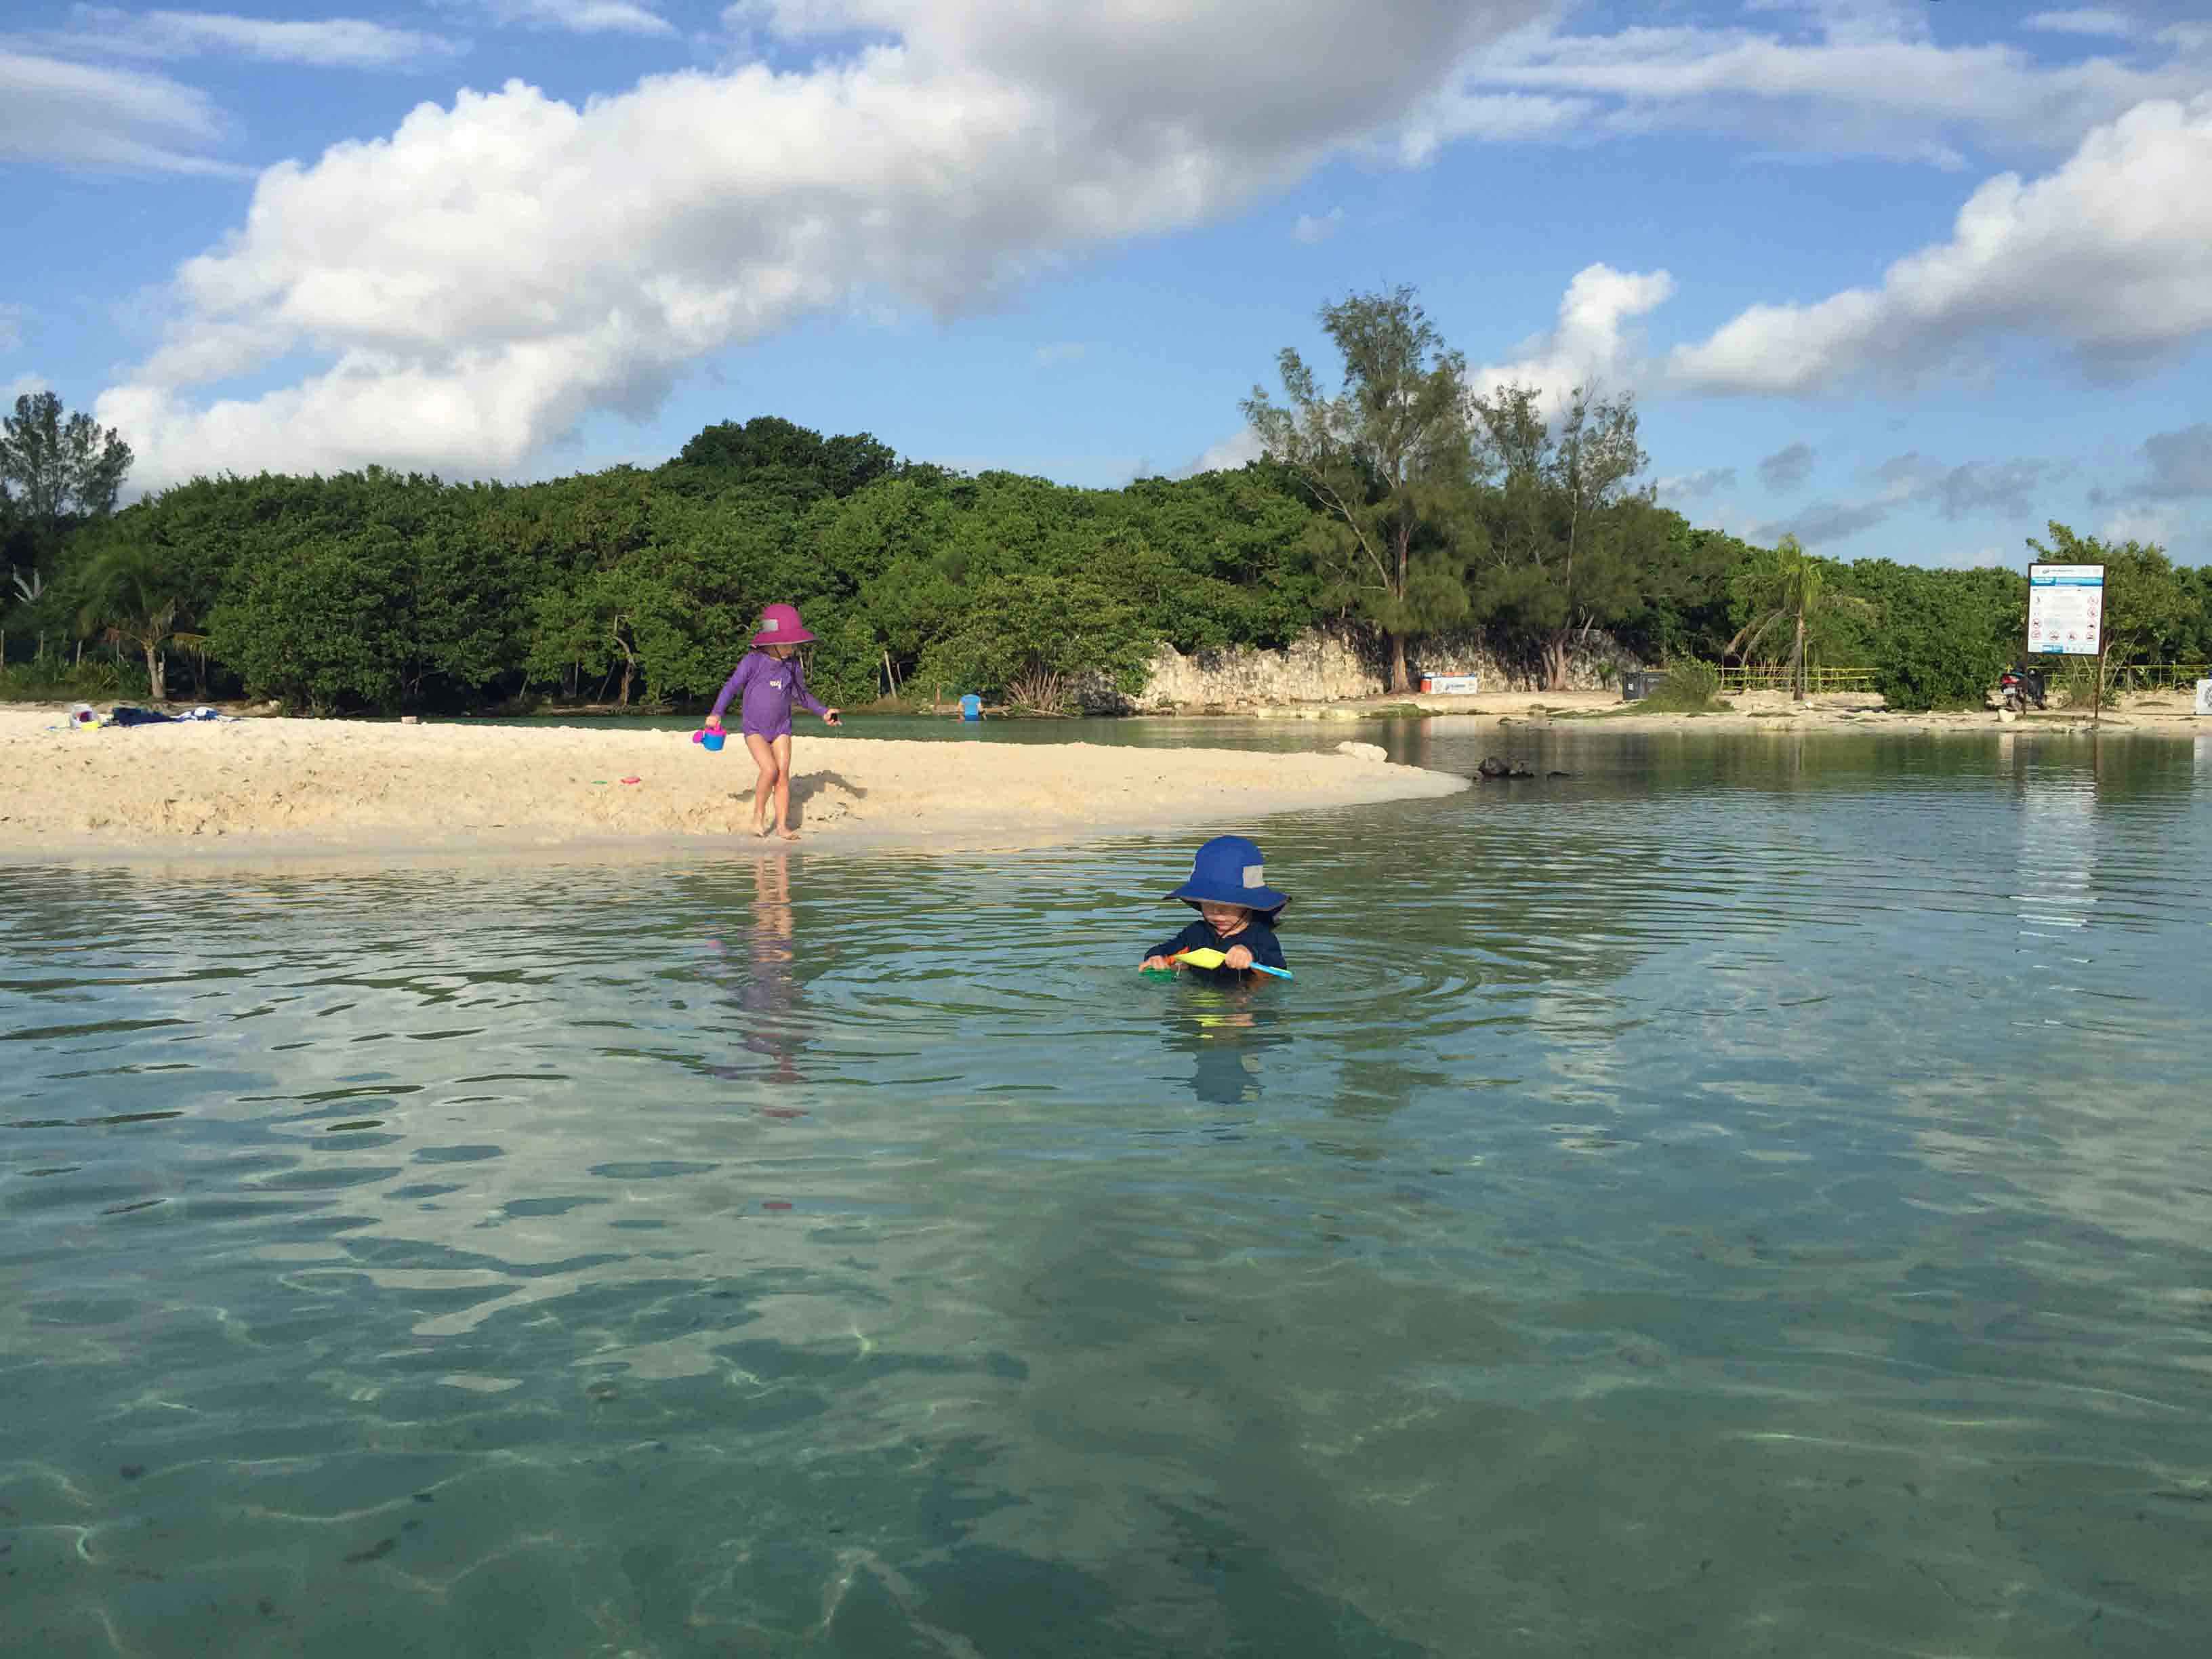
[[[365,462],[513,473],[595,409],[823,310],[956,314],[1060,259],[1203,223],[1407,108],[1542,0],[858,0],[805,71],[653,75],[577,108],[509,82],[261,175],[97,403],[139,482]],[[323,367],[230,389],[288,354]],[[223,396],[230,392],[230,396]]]

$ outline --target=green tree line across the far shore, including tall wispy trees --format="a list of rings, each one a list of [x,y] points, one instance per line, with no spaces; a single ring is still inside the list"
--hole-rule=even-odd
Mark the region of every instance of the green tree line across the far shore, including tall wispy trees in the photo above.
[[[1818,560],[1690,524],[1639,487],[1628,396],[1475,389],[1409,290],[1321,314],[1340,389],[1285,352],[1239,471],[1073,489],[900,460],[776,416],[661,467],[535,484],[367,469],[197,478],[117,509],[122,434],[35,394],[0,418],[0,611],[15,695],[246,695],[301,710],[710,697],[768,602],[812,684],[1053,706],[1161,646],[1363,639],[1405,688],[1464,644],[1564,686],[1610,641],[1668,659],[1847,664],[1900,708],[1980,701],[2017,657],[2022,571]],[[2212,573],[2062,524],[2108,566],[2117,661],[2212,657]],[[104,679],[102,679],[104,677]]]

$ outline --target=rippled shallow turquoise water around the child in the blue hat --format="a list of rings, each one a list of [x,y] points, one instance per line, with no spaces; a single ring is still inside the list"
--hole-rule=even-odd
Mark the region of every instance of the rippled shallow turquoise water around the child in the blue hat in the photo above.
[[[2212,752],[1520,752],[1250,1000],[1157,841],[0,872],[9,1650],[2199,1652]]]

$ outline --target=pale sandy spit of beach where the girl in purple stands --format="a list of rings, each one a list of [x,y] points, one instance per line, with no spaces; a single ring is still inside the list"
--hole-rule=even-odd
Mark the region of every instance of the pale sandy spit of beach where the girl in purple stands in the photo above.
[[[1345,754],[799,734],[801,847],[991,849],[1442,796],[1467,779]],[[624,783],[624,779],[637,779]],[[241,719],[69,730],[0,710],[0,856],[757,847],[752,761],[688,732]]]

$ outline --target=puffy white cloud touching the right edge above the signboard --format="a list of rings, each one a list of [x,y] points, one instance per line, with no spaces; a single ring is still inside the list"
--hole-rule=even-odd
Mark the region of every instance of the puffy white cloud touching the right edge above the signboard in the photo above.
[[[2097,372],[2170,358],[2212,330],[2212,95],[2143,104],[2055,173],[1991,179],[1951,239],[1896,261],[1880,288],[1752,305],[1674,378],[1699,392],[1814,394],[1911,376],[1993,332],[2062,341]]]

